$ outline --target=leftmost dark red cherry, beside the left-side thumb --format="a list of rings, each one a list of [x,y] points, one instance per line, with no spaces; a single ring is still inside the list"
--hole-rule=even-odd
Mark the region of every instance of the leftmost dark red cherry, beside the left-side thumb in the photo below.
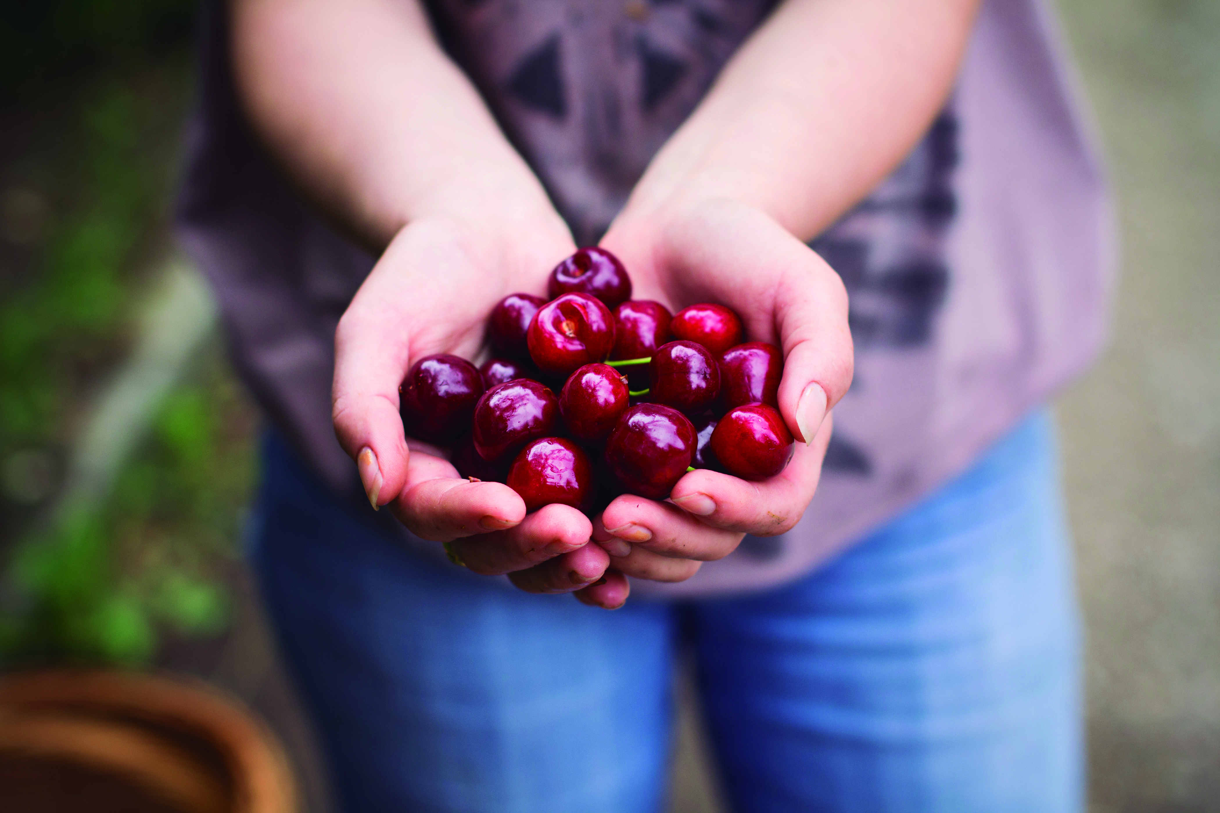
[[[465,358],[425,356],[411,366],[399,391],[406,433],[449,444],[470,429],[475,405],[483,394],[483,377]]]

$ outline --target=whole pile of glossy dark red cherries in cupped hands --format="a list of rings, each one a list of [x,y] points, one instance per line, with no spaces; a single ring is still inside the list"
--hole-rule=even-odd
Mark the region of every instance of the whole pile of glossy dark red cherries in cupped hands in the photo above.
[[[742,344],[731,310],[671,316],[632,300],[622,263],[597,247],[559,263],[548,294],[497,304],[498,355],[482,367],[427,356],[403,382],[407,434],[454,445],[462,477],[506,483],[528,511],[594,512],[620,494],[667,497],[693,468],[764,479],[788,464],[783,360],[773,345]]]

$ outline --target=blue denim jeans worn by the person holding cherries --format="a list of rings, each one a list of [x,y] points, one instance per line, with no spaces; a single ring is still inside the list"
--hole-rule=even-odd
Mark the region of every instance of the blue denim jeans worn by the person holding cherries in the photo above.
[[[617,612],[399,547],[282,441],[253,561],[346,813],[664,803],[676,652],[742,813],[1082,809],[1050,419],[811,575]]]

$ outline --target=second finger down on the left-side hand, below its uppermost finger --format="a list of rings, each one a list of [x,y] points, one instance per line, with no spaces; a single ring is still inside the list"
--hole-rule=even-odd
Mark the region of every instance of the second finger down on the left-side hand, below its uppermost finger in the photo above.
[[[576,551],[592,531],[589,518],[576,508],[549,505],[504,533],[459,539],[453,547],[475,573],[500,575]]]

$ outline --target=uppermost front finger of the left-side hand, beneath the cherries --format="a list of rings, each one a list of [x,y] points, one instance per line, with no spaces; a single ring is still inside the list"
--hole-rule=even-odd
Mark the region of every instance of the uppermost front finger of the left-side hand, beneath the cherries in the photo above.
[[[416,536],[436,542],[505,530],[526,516],[525,501],[503,483],[472,483],[449,461],[418,452],[407,458],[405,486],[390,509]]]

